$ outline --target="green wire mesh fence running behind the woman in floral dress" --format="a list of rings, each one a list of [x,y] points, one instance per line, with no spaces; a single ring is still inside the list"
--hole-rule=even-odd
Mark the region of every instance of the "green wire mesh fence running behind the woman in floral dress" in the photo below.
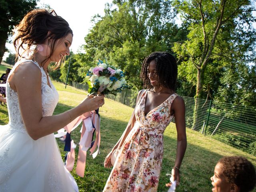
[[[73,82],[72,86],[88,90],[87,84]],[[137,95],[136,90],[124,89],[107,97],[134,108]],[[186,105],[186,127],[256,156],[256,108],[182,98]]]

